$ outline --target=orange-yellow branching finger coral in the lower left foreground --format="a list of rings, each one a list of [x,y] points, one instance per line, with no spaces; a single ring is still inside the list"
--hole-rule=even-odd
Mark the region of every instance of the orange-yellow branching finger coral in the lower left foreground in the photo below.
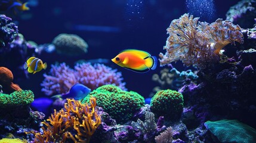
[[[54,110],[48,122],[43,123],[43,133],[34,133],[35,142],[90,142],[90,138],[101,124],[96,108],[96,99],[90,98],[90,105],[67,99],[64,108]],[[45,128],[46,127],[46,128]]]

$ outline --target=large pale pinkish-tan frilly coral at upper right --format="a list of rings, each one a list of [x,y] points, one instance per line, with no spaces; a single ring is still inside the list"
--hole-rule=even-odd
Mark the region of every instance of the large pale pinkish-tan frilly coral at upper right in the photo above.
[[[161,66],[181,60],[186,66],[203,69],[207,63],[219,61],[220,50],[229,43],[243,43],[240,27],[217,19],[214,23],[199,22],[199,18],[184,14],[173,20],[167,29],[169,37],[160,53]]]

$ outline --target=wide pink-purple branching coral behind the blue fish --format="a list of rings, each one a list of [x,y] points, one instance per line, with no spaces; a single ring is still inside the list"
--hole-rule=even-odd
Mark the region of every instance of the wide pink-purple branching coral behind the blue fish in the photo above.
[[[51,65],[49,75],[44,74],[45,79],[41,83],[42,92],[46,95],[66,94],[76,83],[81,83],[91,90],[107,84],[126,89],[125,83],[122,82],[121,72],[104,66],[104,64],[92,66],[90,63],[82,63],[76,64],[74,68],[75,70],[70,69],[65,63],[61,63],[59,66]]]

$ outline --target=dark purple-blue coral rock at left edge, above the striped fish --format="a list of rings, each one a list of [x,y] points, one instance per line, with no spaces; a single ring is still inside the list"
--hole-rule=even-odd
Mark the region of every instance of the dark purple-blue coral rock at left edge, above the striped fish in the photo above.
[[[14,35],[18,33],[18,27],[11,21],[11,18],[0,15],[0,52],[10,45]]]

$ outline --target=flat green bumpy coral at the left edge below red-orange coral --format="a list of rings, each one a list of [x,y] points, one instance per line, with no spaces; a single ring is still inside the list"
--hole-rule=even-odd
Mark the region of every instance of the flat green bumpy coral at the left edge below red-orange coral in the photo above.
[[[0,93],[0,107],[27,105],[33,102],[34,94],[30,90],[14,91],[11,94]]]

